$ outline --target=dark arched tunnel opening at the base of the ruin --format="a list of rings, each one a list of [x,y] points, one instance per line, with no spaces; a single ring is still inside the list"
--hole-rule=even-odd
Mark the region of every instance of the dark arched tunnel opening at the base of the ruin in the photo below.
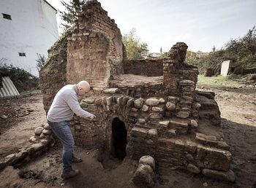
[[[111,154],[113,157],[123,160],[127,155],[127,129],[124,122],[115,117],[112,122]]]

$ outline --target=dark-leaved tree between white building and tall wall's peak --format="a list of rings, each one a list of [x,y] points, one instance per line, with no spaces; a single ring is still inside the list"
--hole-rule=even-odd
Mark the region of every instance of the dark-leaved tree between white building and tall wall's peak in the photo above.
[[[60,11],[61,19],[64,20],[64,23],[61,23],[61,26],[64,28],[69,28],[72,26],[76,20],[78,20],[78,15],[83,11],[83,4],[89,0],[71,0],[69,3],[66,3],[64,0],[61,0],[61,4],[65,7],[65,11]]]

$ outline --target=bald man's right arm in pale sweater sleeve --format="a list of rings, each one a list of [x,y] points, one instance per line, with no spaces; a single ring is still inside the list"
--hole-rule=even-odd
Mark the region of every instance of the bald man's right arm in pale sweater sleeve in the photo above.
[[[78,103],[78,98],[75,95],[69,95],[67,104],[69,105],[69,108],[79,117],[88,118],[94,116],[94,114],[91,114],[81,108],[80,104]]]

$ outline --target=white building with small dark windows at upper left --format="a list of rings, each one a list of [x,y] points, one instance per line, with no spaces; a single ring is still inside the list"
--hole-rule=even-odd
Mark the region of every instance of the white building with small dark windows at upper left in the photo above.
[[[45,0],[0,0],[0,60],[38,75],[37,53],[59,37],[57,10]]]

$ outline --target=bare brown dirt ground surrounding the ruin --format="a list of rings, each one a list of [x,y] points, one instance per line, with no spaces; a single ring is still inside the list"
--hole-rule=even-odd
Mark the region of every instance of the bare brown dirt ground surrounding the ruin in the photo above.
[[[206,88],[200,90],[208,90]],[[222,112],[221,133],[233,154],[231,168],[236,173],[234,184],[208,179],[184,171],[157,169],[155,187],[256,187],[256,90],[255,88],[211,89]],[[34,128],[46,123],[41,95],[26,98],[1,99],[0,161],[2,157],[29,144]],[[75,154],[83,162],[74,168],[81,174],[74,179],[61,180],[61,146],[29,162],[20,169],[11,166],[0,172],[0,187],[134,187],[131,179],[138,162],[108,159],[98,162],[97,151],[75,148]],[[20,174],[20,175],[19,175]]]

